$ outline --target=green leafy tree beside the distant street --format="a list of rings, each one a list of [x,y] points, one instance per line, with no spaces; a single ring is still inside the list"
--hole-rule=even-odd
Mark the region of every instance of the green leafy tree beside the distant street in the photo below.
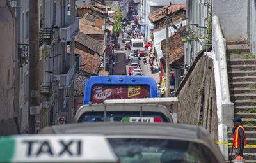
[[[113,17],[113,19],[115,20],[115,23],[113,24],[113,33],[114,34],[116,34],[117,32],[122,31],[122,27],[120,27],[120,26],[122,25],[122,20],[123,20],[124,17],[125,17],[125,15],[120,10],[120,7],[119,6],[116,7],[115,8],[115,15]]]

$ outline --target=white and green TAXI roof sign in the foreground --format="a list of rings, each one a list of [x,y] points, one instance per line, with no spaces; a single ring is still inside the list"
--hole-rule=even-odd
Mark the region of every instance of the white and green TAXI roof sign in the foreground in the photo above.
[[[41,134],[0,137],[0,162],[118,162],[102,135]]]

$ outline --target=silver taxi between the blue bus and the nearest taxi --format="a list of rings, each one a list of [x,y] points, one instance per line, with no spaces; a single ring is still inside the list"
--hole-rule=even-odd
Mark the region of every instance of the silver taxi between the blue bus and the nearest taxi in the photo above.
[[[86,104],[79,108],[74,123],[86,122],[169,122],[170,111],[161,104]],[[115,100],[118,101],[118,100]],[[105,101],[104,101],[105,102]]]

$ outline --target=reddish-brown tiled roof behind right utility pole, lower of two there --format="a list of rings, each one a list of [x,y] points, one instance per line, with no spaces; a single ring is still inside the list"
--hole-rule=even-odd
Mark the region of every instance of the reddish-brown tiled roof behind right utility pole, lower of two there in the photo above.
[[[180,32],[176,32],[169,38],[169,64],[171,66],[178,66],[177,62],[178,64],[184,65],[184,42],[182,42],[182,38],[183,36]],[[161,41],[161,46],[163,53],[165,54],[165,39]]]

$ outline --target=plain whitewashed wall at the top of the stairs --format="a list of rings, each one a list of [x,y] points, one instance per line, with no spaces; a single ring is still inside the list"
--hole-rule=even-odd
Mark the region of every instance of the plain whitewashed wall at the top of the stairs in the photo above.
[[[248,39],[248,1],[212,1],[212,16],[219,17],[226,41],[244,41]]]

